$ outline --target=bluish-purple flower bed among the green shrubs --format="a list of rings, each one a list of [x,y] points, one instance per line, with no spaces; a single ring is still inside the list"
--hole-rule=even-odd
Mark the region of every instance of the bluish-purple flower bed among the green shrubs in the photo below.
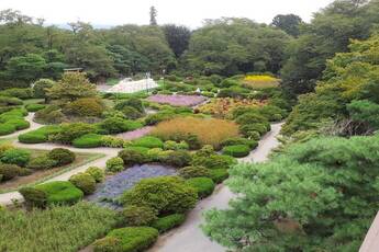
[[[120,206],[114,199],[121,196],[124,191],[133,187],[142,179],[172,175],[175,173],[176,170],[174,168],[161,164],[134,165],[107,177],[103,183],[98,185],[96,192],[87,197],[87,201],[116,209]]]

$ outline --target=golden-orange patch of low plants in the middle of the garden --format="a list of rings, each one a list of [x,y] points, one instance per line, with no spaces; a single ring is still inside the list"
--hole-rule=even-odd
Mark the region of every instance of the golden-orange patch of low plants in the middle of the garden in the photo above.
[[[152,135],[163,140],[189,134],[196,135],[202,146],[211,145],[219,149],[223,140],[238,136],[238,126],[234,122],[224,119],[178,117],[159,123],[152,130]]]

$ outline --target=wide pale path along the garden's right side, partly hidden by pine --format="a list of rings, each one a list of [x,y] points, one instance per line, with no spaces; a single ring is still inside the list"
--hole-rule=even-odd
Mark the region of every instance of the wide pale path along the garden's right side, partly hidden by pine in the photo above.
[[[271,131],[260,141],[257,149],[241,159],[242,162],[264,162],[267,160],[270,151],[279,145],[276,137],[279,135],[282,124],[272,124]],[[228,202],[233,198],[232,192],[223,185],[220,185],[212,196],[201,201],[197,207],[190,211],[186,222],[177,229],[159,237],[151,252],[223,252],[225,248],[212,242],[203,234],[199,225],[203,222],[202,214],[212,208],[225,209]]]

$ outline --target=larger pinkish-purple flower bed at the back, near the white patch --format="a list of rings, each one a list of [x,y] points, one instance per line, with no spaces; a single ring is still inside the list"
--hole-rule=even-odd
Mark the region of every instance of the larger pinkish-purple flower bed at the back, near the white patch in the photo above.
[[[200,95],[166,95],[156,94],[147,99],[151,102],[169,104],[172,106],[196,106],[207,101],[207,98]]]

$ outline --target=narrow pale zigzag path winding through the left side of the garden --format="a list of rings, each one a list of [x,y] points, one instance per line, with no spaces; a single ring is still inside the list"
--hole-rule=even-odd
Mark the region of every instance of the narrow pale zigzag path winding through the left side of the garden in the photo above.
[[[42,124],[37,124],[35,122],[33,122],[33,117],[34,117],[34,113],[30,113],[25,119],[27,122],[30,122],[31,127],[24,130],[20,130],[16,131],[14,134],[8,135],[8,136],[2,136],[1,138],[15,138],[21,134],[24,134],[26,131],[31,131],[37,128],[41,128],[45,125]],[[85,152],[85,153],[99,153],[102,154],[101,158],[96,159],[91,162],[88,162],[83,165],[77,167],[70,171],[67,171],[60,175],[54,176],[53,179],[49,179],[43,183],[46,182],[51,182],[51,181],[67,181],[71,175],[78,173],[78,172],[83,172],[86,171],[89,167],[99,167],[99,168],[105,168],[105,162],[108,159],[113,158],[115,156],[118,156],[118,152],[121,149],[116,149],[116,148],[93,148],[93,149],[79,149],[79,148],[74,148],[70,146],[64,146],[64,145],[56,145],[56,144],[51,144],[51,142],[44,142],[44,144],[35,144],[35,145],[25,145],[25,144],[21,144],[19,142],[18,139],[15,139],[13,141],[13,145],[15,147],[21,147],[21,148],[29,148],[29,149],[40,149],[40,150],[52,150],[54,148],[65,148],[65,149],[69,149],[74,152]],[[9,192],[9,193],[3,193],[0,194],[0,205],[9,205],[12,203],[12,199],[18,199],[18,201],[23,201],[23,197],[21,196],[21,194],[19,192]]]

